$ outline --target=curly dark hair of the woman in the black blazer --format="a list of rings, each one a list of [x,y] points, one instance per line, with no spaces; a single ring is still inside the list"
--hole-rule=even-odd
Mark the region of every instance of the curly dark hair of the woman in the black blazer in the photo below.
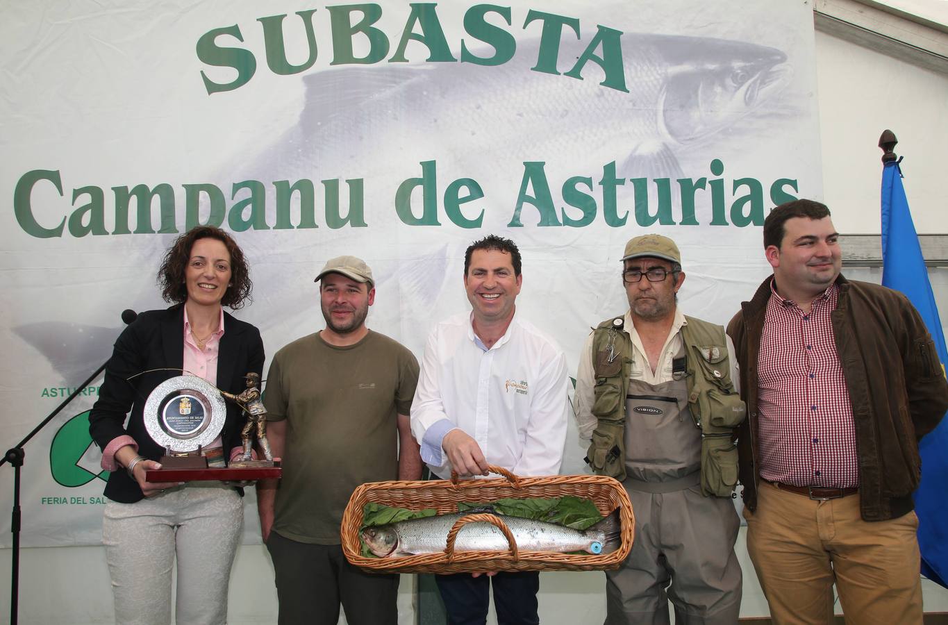
[[[198,239],[217,239],[228,248],[230,254],[230,286],[224,293],[221,305],[237,310],[246,303],[253,302],[250,297],[253,283],[250,282],[250,269],[246,266],[244,252],[237,242],[224,230],[214,226],[195,226],[174,239],[171,248],[158,268],[158,286],[165,302],[184,303],[188,300],[188,287],[184,284],[185,267],[191,260],[191,248]]]

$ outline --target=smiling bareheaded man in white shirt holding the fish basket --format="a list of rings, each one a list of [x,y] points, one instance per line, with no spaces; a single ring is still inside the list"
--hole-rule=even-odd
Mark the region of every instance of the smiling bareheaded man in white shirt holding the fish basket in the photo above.
[[[428,337],[411,404],[422,460],[443,479],[451,469],[484,475],[488,465],[518,475],[556,475],[563,460],[568,377],[563,352],[517,314],[520,250],[495,235],[465,252],[473,310],[439,323]],[[437,576],[451,625],[486,621],[488,577]],[[535,625],[537,572],[493,577],[501,625]]]

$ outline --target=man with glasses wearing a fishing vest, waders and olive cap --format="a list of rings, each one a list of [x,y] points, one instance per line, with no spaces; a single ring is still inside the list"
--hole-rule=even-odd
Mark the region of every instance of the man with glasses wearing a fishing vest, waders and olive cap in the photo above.
[[[586,460],[622,481],[635,513],[629,559],[606,572],[606,625],[667,624],[669,598],[676,622],[738,622],[732,434],[744,404],[723,328],[678,307],[681,263],[667,237],[626,244],[629,310],[593,329],[576,373]]]

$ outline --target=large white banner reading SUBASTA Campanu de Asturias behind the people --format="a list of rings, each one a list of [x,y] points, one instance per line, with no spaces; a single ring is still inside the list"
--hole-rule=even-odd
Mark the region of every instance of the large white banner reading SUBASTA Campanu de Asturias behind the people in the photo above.
[[[630,237],[674,238],[684,310],[726,322],[767,273],[766,212],[822,193],[808,3],[178,4],[4,9],[7,446],[108,358],[123,309],[166,305],[160,256],[197,223],[246,251],[238,317],[268,355],[322,326],[313,278],[355,254],[369,325],[420,356],[468,305],[467,245],[510,237],[518,306],[574,369],[627,307]],[[100,542],[99,383],[27,445],[25,545]],[[564,471],[583,454],[571,436]]]

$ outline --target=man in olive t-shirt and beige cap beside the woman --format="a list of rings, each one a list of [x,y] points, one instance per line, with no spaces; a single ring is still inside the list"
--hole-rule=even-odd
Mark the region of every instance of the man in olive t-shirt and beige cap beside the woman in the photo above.
[[[418,444],[409,412],[418,361],[369,330],[372,270],[354,256],[316,277],[326,328],[289,343],[266,379],[267,435],[283,479],[257,486],[264,542],[273,559],[281,625],[396,625],[397,575],[363,573],[339,546],[342,511],[365,482],[416,480]]]

